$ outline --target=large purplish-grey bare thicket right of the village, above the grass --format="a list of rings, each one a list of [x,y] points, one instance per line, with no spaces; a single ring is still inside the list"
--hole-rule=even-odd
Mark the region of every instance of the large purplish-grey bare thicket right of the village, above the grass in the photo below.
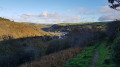
[[[93,41],[104,38],[106,35],[97,27],[78,27],[74,28],[68,35],[71,47],[86,46]]]

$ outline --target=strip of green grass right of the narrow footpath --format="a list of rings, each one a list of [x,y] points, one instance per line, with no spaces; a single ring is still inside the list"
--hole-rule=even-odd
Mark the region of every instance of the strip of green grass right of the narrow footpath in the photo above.
[[[111,63],[111,49],[108,45],[108,39],[105,39],[104,41],[101,41],[100,46],[98,47],[98,61],[96,62],[95,67],[115,67],[114,64]]]

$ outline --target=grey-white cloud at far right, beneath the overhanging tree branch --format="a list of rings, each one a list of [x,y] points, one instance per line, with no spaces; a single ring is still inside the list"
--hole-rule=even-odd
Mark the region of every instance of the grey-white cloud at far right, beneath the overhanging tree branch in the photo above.
[[[120,11],[111,9],[109,6],[103,6],[99,13],[102,14],[99,21],[120,20]]]

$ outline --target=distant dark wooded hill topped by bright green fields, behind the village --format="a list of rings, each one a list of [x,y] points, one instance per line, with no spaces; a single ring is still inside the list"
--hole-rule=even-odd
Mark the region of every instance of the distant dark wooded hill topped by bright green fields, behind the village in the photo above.
[[[105,28],[106,24],[109,22],[90,22],[90,23],[60,23],[60,24],[54,24],[50,28],[43,28],[45,31],[62,31],[62,32],[68,32],[73,28],[76,27],[99,27],[99,28]]]

